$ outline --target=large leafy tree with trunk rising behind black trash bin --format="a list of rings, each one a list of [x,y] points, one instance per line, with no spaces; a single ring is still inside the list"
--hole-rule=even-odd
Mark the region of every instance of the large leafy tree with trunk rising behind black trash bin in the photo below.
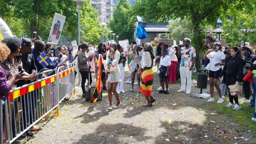
[[[188,18],[192,22],[194,36],[191,38],[196,49],[196,68],[201,68],[202,39],[205,38],[203,27],[206,24],[217,25],[221,14],[225,14],[230,5],[242,5],[242,0],[138,0],[132,11],[134,15],[140,15],[143,20],[150,22],[166,22],[177,18]]]

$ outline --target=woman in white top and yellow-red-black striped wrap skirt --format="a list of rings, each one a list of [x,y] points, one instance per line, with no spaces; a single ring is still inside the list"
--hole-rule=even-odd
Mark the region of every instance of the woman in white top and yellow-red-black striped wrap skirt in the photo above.
[[[155,99],[152,97],[152,88],[154,81],[154,73],[152,70],[153,60],[155,56],[153,54],[153,47],[150,43],[146,43],[143,47],[142,59],[141,59],[141,68],[138,69],[137,73],[141,73],[140,76],[140,92],[145,95],[147,99],[147,104],[143,107],[152,107],[152,103],[155,102]]]

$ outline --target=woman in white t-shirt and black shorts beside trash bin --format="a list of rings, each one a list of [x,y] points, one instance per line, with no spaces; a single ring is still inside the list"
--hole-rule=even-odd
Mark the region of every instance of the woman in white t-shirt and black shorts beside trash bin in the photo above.
[[[210,78],[211,98],[207,102],[214,102],[214,98],[213,98],[214,86],[217,89],[217,92],[220,97],[217,103],[224,102],[221,95],[220,86],[218,84],[219,76],[222,71],[221,67],[225,65],[225,54],[221,51],[221,49],[222,49],[221,43],[215,42],[212,46],[212,49],[207,50],[203,57],[204,60],[207,60],[207,59],[210,60],[209,78]]]

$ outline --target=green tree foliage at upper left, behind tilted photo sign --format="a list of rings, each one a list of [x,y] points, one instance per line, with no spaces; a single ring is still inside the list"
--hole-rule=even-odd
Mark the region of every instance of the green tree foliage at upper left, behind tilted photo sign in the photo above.
[[[6,21],[12,33],[18,37],[26,35],[31,37],[33,31],[37,31],[37,34],[46,41],[51,30],[54,13],[57,12],[66,16],[61,33],[63,39],[67,41],[78,39],[78,10],[76,2],[71,0],[3,0],[3,3],[0,3],[0,10],[0,17]],[[102,27],[98,16],[98,12],[93,9],[90,1],[83,2],[81,42],[95,44],[100,42]]]

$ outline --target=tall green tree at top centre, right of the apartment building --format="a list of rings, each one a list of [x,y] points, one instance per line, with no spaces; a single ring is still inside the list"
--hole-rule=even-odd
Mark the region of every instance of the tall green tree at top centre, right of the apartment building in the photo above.
[[[110,19],[109,28],[119,36],[118,39],[129,39],[134,41],[134,18],[131,17],[129,9],[131,5],[127,0],[120,0],[114,9],[113,19]]]

